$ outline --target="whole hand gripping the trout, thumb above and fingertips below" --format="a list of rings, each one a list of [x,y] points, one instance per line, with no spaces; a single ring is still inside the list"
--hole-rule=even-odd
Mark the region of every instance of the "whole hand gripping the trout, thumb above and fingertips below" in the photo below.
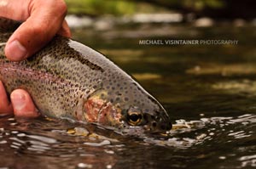
[[[20,61],[43,48],[55,34],[71,37],[64,20],[67,13],[63,0],[1,0],[0,16],[24,21],[6,43],[5,55],[11,61]],[[36,117],[38,111],[26,91],[16,89],[9,103],[3,83],[0,82],[0,113],[14,112],[16,116]]]

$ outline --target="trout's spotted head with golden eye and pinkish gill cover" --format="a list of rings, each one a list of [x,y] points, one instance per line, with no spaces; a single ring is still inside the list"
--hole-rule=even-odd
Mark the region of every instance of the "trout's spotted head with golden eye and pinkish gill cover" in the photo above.
[[[131,88],[132,90],[132,88]],[[84,102],[85,121],[120,131],[165,132],[172,129],[166,110],[146,91],[101,89]],[[136,94],[137,92],[141,94]]]

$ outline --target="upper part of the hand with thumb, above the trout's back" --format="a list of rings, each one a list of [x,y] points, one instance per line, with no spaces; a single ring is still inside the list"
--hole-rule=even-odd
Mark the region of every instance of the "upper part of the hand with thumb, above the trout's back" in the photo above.
[[[26,59],[43,48],[56,33],[71,37],[63,0],[1,0],[0,16],[24,21],[6,43],[5,55],[12,61]]]

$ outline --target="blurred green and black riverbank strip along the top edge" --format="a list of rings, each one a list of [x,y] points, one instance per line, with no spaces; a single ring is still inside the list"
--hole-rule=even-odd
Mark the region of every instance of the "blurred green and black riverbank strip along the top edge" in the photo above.
[[[177,12],[213,19],[252,20],[256,17],[254,0],[66,0],[69,14],[136,14]]]

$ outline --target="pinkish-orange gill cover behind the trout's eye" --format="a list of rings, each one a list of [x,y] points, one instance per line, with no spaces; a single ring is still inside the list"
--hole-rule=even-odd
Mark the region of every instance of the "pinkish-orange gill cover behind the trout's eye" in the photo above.
[[[84,119],[108,127],[123,125],[121,110],[100,97],[90,97],[84,103]]]

